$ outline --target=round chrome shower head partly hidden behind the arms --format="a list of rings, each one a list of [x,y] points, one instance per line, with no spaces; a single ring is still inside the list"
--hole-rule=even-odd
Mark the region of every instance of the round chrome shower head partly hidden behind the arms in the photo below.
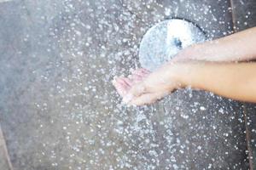
[[[164,20],[144,35],[139,49],[139,61],[143,68],[154,71],[181,49],[205,40],[205,33],[190,21]]]

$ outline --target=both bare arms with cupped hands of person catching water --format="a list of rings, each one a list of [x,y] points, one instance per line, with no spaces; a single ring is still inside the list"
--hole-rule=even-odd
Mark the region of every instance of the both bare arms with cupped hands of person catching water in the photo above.
[[[252,84],[256,85],[253,82],[255,64],[234,62],[255,59],[255,44],[256,28],[195,44],[183,49],[172,62],[160,66],[157,71],[149,73],[140,69],[130,77],[116,78],[113,85],[130,105],[152,104],[173,90],[188,86],[231,99],[256,102],[253,96],[248,96],[250,91],[251,94],[255,91]],[[182,74],[183,71],[187,74]]]

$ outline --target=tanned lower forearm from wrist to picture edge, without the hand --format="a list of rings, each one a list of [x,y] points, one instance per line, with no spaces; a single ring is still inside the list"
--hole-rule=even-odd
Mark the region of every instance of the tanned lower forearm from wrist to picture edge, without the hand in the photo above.
[[[171,70],[182,87],[199,88],[230,99],[256,102],[255,63],[177,63],[172,65]]]

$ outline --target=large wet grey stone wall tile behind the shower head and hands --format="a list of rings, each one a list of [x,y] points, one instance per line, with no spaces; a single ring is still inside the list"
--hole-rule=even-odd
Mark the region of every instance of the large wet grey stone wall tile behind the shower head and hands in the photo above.
[[[0,122],[15,169],[247,169],[241,103],[180,90],[122,105],[115,75],[139,67],[143,34],[170,17],[233,31],[229,1],[0,3]]]

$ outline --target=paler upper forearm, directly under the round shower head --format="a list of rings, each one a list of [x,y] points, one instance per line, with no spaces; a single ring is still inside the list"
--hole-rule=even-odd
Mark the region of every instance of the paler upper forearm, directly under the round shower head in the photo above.
[[[256,27],[210,42],[192,45],[177,54],[177,60],[241,61],[256,59],[255,44]]]

